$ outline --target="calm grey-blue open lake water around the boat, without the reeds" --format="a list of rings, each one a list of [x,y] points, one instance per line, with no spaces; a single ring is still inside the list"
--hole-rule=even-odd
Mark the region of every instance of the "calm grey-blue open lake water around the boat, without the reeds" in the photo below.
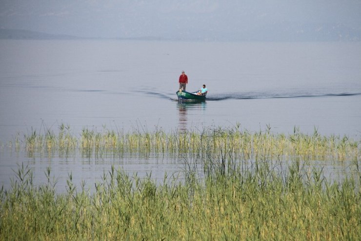
[[[83,127],[176,131],[241,123],[248,131],[269,124],[271,131],[290,133],[296,126],[359,140],[360,66],[361,43],[0,40],[0,143],[32,128],[56,131],[61,123],[76,135]],[[206,102],[177,101],[181,70],[187,90],[207,85]],[[39,178],[50,165],[60,179],[73,171],[88,183],[111,164],[160,179],[181,169],[172,160],[29,159],[3,149],[5,186],[22,162]]]

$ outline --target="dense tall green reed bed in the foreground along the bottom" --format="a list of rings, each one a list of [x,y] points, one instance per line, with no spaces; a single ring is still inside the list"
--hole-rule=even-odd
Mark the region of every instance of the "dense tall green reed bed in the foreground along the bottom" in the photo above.
[[[57,194],[50,168],[35,186],[22,166],[11,190],[0,191],[0,240],[360,240],[359,170],[331,183],[300,162],[283,169],[259,161],[156,183],[112,167],[93,193],[69,175]]]

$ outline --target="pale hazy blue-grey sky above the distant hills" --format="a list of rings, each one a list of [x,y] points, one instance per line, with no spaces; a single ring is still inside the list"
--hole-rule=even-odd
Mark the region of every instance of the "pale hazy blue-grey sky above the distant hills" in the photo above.
[[[232,38],[317,24],[361,31],[361,0],[0,0],[1,28],[80,37]]]

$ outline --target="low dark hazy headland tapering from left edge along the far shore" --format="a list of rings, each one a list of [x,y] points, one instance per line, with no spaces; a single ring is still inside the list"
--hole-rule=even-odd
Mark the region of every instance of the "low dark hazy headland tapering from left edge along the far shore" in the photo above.
[[[0,39],[81,39],[71,35],[56,35],[21,29],[0,29]]]

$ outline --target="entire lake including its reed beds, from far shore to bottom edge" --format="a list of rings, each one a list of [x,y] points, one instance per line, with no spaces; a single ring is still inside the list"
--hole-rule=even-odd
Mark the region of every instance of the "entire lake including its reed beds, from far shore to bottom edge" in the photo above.
[[[0,40],[0,240],[360,239],[360,56]]]

